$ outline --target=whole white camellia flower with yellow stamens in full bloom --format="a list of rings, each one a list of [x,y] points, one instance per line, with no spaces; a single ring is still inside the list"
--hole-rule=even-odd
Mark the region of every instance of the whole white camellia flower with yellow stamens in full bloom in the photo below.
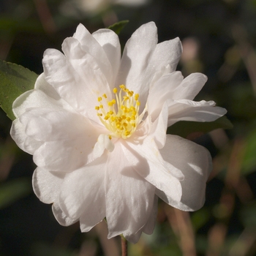
[[[211,156],[167,127],[180,120],[214,121],[226,113],[193,101],[206,83],[176,72],[180,39],[157,43],[146,23],[121,57],[109,29],[79,25],[59,50],[45,51],[34,89],[13,103],[11,135],[37,165],[33,187],[53,203],[61,225],[82,232],[106,217],[108,238],[136,243],[154,230],[157,200],[183,211],[203,206]]]

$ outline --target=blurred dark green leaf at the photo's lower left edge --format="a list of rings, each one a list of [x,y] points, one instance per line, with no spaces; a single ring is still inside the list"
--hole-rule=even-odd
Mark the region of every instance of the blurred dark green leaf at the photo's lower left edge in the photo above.
[[[0,208],[10,206],[16,200],[29,195],[31,192],[29,178],[17,178],[0,185]]]

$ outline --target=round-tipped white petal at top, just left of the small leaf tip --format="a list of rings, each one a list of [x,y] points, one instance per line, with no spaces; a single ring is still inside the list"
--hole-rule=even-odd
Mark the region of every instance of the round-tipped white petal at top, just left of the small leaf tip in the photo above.
[[[113,80],[109,84],[112,89],[115,85],[121,60],[121,46],[118,35],[110,29],[99,29],[94,32],[92,36],[97,39],[97,42],[99,42],[99,45],[101,45],[105,51],[108,61],[110,61],[113,70]]]

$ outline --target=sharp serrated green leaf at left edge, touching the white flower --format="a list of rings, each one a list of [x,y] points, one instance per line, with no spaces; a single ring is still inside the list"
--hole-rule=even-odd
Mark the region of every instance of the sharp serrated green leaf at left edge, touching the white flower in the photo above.
[[[34,89],[38,75],[25,67],[0,60],[0,107],[14,120],[12,103],[25,91]]]

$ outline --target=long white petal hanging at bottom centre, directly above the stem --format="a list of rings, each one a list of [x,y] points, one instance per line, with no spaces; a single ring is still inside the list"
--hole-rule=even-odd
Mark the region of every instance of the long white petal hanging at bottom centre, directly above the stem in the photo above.
[[[116,143],[108,157],[105,180],[108,238],[123,233],[128,241],[136,243],[140,235],[135,234],[151,215],[155,188],[133,169],[123,148],[121,142]]]

